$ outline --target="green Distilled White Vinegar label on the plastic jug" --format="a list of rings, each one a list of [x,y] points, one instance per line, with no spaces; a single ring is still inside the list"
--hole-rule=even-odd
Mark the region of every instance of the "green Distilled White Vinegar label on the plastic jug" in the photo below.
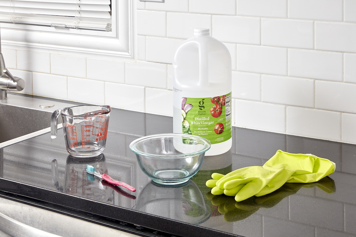
[[[209,98],[182,97],[182,132],[208,139],[211,144],[231,138],[231,92]]]

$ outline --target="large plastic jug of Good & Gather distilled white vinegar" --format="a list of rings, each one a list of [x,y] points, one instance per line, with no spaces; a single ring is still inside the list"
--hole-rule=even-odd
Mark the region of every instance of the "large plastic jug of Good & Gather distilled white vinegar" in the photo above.
[[[214,156],[231,148],[231,125],[229,50],[209,29],[196,28],[173,59],[173,133],[208,139],[205,155]]]

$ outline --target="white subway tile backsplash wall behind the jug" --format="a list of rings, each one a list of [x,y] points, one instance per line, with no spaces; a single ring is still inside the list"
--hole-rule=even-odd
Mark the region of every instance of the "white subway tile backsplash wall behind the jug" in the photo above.
[[[172,116],[172,59],[196,27],[232,58],[235,126],[356,144],[355,0],[136,2],[137,63],[2,49],[23,92]]]

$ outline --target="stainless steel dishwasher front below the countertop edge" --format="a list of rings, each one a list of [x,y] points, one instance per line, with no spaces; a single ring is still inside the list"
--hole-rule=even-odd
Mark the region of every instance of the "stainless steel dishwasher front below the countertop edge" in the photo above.
[[[0,237],[135,237],[53,211],[0,198]]]

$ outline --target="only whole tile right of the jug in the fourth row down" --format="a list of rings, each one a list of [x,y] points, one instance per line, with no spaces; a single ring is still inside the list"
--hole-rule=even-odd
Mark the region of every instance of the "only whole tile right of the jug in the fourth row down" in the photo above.
[[[314,107],[314,80],[262,75],[262,101]]]

